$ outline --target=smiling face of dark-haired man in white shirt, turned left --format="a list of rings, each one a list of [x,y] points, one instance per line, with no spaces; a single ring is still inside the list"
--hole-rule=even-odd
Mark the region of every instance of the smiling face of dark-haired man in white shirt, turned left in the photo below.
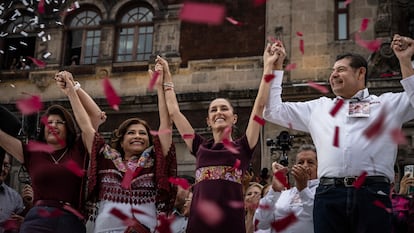
[[[366,69],[364,67],[352,68],[350,63],[351,58],[336,61],[329,77],[333,93],[346,99],[365,88]]]

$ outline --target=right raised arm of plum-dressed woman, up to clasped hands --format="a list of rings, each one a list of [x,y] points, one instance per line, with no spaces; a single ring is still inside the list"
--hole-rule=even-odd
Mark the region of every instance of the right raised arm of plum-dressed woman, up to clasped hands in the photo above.
[[[253,148],[257,144],[261,128],[261,125],[256,122],[254,118],[263,118],[263,110],[269,97],[270,85],[265,81],[265,77],[267,75],[272,75],[273,68],[281,70],[285,57],[285,48],[281,42],[275,42],[273,45],[267,44],[266,49],[263,52],[263,76],[260,81],[259,90],[246,129],[246,137],[250,148]]]

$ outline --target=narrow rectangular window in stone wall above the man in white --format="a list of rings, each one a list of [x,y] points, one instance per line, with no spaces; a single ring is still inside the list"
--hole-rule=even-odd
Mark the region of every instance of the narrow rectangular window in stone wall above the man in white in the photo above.
[[[344,0],[335,1],[335,40],[348,40],[348,7]]]

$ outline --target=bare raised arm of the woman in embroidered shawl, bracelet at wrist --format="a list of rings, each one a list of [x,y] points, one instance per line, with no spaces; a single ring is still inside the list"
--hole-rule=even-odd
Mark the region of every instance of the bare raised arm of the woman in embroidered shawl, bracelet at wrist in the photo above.
[[[167,156],[172,144],[172,121],[168,114],[167,104],[165,102],[164,89],[162,85],[164,82],[164,68],[161,63],[157,63],[155,65],[155,72],[158,72],[158,79],[156,83],[158,96],[158,112],[160,117],[160,126],[158,131],[160,132],[159,138],[161,141],[162,152],[164,156]],[[148,74],[150,78],[152,78],[154,72],[152,70],[148,70]]]

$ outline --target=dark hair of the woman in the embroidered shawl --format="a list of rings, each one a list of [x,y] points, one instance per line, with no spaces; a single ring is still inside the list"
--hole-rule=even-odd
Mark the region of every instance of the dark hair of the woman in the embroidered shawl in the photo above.
[[[124,136],[128,130],[128,127],[131,125],[136,125],[136,124],[143,125],[145,127],[145,129],[147,130],[148,137],[149,137],[149,145],[150,146],[153,145],[152,135],[150,134],[151,128],[149,127],[148,123],[140,118],[130,118],[122,122],[119,125],[118,129],[112,132],[111,147],[119,151],[122,156],[124,156],[125,151],[121,147],[121,142],[122,140],[124,140]]]

